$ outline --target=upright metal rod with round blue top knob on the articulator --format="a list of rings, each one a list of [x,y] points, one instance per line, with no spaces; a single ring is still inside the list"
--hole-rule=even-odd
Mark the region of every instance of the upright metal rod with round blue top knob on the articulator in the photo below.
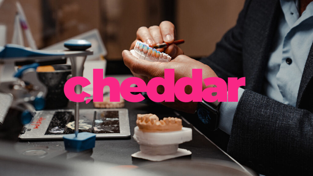
[[[86,49],[91,47],[91,43],[87,40],[77,40],[77,39],[71,39],[66,42],[64,42],[64,47],[68,48],[69,50],[73,51],[85,51]],[[72,65],[72,76],[83,76],[84,71],[84,63],[87,56],[79,56],[79,57],[70,57],[71,65]],[[75,93],[81,94],[82,92],[82,86],[76,85],[75,86]],[[75,137],[77,137],[77,134],[79,132],[79,102],[75,103]]]

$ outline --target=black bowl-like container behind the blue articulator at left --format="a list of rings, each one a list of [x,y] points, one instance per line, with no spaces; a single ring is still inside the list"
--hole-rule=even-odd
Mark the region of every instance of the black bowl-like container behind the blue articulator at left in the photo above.
[[[53,72],[37,72],[39,80],[46,85],[46,106],[44,109],[59,109],[67,106],[69,99],[64,94],[64,85],[71,74],[70,65],[52,65]]]

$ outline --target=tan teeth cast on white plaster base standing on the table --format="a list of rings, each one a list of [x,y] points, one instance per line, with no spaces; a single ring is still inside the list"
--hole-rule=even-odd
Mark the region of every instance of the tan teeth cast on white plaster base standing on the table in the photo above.
[[[163,120],[154,114],[138,114],[134,139],[140,145],[140,151],[132,157],[162,161],[170,158],[190,155],[178,144],[192,140],[192,129],[182,127],[182,120],[165,117]]]

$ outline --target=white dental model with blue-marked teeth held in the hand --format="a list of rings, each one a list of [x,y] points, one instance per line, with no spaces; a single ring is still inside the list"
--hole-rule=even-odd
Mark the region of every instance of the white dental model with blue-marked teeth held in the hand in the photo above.
[[[151,62],[169,62],[172,58],[168,54],[161,53],[154,48],[149,47],[148,44],[140,41],[136,42],[134,49],[131,50],[131,54],[138,59],[148,60]]]

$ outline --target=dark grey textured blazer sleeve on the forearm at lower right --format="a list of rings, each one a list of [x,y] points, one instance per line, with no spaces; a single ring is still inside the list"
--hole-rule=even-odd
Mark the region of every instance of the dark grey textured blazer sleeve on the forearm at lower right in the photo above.
[[[313,114],[245,90],[234,115],[228,153],[259,172],[312,173]]]

